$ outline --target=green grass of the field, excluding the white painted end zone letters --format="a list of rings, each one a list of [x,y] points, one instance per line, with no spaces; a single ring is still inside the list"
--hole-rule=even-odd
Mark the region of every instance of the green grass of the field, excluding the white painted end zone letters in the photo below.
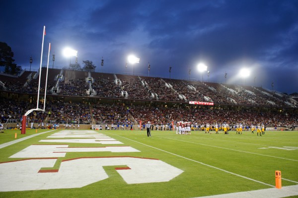
[[[15,132],[16,139],[19,139],[46,131],[49,130],[38,130],[37,133],[27,130],[26,134],[20,134],[20,131],[6,130],[0,133],[0,144],[15,140]],[[51,144],[39,140],[47,139],[47,136],[56,132],[59,130],[0,148],[0,162],[24,159],[9,156],[32,144]],[[104,166],[109,178],[82,188],[0,192],[0,198],[194,198],[273,188],[276,170],[282,172],[283,187],[298,184],[298,132],[265,132],[257,136],[256,132],[235,134],[231,131],[228,135],[192,132],[191,135],[178,135],[175,132],[152,131],[152,137],[147,137],[146,131],[96,132],[141,152],[69,152],[65,157],[59,157],[54,167],[43,169],[59,169],[62,160],[66,159],[133,156],[159,159],[181,169],[183,173],[169,182],[127,184],[115,171],[115,166]],[[114,145],[53,144],[68,144],[69,147]]]

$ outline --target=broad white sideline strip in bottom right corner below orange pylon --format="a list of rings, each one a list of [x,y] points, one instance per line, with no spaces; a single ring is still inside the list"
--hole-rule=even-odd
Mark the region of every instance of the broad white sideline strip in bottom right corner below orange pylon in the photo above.
[[[298,195],[298,185],[282,187],[282,189],[261,189],[200,198],[285,198]]]

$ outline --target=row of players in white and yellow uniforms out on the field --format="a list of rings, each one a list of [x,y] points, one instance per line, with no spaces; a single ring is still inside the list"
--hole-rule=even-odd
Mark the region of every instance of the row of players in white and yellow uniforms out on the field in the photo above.
[[[226,122],[224,122],[224,124],[222,124],[222,125],[217,124],[217,123],[213,124],[213,125],[210,125],[208,123],[206,125],[199,126],[198,124],[193,125],[190,122],[179,121],[176,124],[176,129],[175,129],[176,134],[191,134],[191,130],[194,130],[195,127],[197,129],[199,129],[199,127],[200,127],[202,131],[205,130],[205,133],[209,133],[212,130],[212,131],[215,131],[216,134],[218,134],[219,131],[224,131],[224,134],[229,134],[228,132],[230,130],[236,131],[236,134],[242,134],[242,131],[245,131],[245,130],[249,131],[249,127],[248,126],[246,126],[246,127],[242,126],[241,123],[230,127]],[[260,136],[262,136],[261,133],[265,134],[265,129],[266,128],[265,128],[265,125],[262,123],[262,124],[258,124],[256,126],[251,125],[250,129],[251,129],[251,133],[254,133],[256,131],[257,135],[259,135],[259,133],[260,133]]]

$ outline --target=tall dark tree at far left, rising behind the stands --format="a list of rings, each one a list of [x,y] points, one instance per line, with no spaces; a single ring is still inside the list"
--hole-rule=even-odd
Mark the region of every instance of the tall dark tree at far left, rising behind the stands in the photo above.
[[[4,73],[18,75],[23,70],[22,66],[13,63],[13,52],[11,48],[3,42],[0,42],[0,66],[4,66]]]

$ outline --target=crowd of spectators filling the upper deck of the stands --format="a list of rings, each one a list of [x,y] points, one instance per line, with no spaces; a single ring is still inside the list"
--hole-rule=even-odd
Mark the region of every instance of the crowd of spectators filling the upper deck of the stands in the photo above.
[[[42,70],[42,76],[45,76],[46,70]],[[49,71],[51,73],[51,80],[48,83],[47,94],[51,94],[50,90],[57,81],[54,76],[59,70]],[[70,96],[88,96],[89,84],[82,78],[83,73],[79,71],[72,71],[72,77],[80,76],[78,79],[71,79],[67,82],[61,82],[59,86],[60,92],[58,94]],[[22,77],[7,78],[7,76],[0,76],[1,82],[4,86],[0,86],[1,90],[21,93],[37,93],[38,83],[36,79],[32,79],[29,73],[23,74]],[[55,74],[55,75],[54,75]],[[26,83],[26,76],[31,76],[31,81]],[[236,88],[235,85],[221,85],[219,83],[199,82],[189,80],[177,80],[167,78],[154,78],[146,76],[129,76],[119,75],[122,85],[116,84],[115,79],[112,79],[114,74],[100,75],[97,73],[97,78],[91,82],[91,87],[94,88],[96,96],[106,98],[124,98],[122,91],[128,92],[128,98],[143,99],[143,100],[161,100],[161,101],[206,101],[206,97],[210,98],[215,104],[238,104],[238,105],[252,105],[252,106],[271,106],[271,107],[297,107],[297,103],[290,99],[285,94],[275,94],[266,91],[261,87],[252,88],[245,86],[244,88]],[[146,86],[142,85],[142,81],[146,82]],[[168,88],[165,84],[168,83],[172,87]],[[195,89],[188,87],[192,85]],[[230,91],[234,90],[234,91]],[[249,93],[248,91],[253,94]],[[44,86],[41,85],[40,92],[44,93]],[[267,94],[266,94],[267,93]],[[179,97],[180,95],[180,97]],[[181,96],[185,98],[181,98]],[[206,97],[204,97],[206,96]],[[270,102],[271,101],[271,102]],[[287,103],[285,103],[287,102]],[[291,104],[289,104],[291,103]]]

